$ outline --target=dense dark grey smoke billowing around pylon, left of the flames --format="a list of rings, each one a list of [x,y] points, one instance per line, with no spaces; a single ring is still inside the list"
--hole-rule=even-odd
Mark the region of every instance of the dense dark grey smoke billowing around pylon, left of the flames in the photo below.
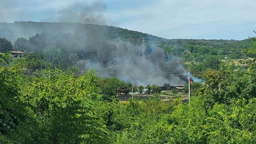
[[[92,33],[95,36],[95,33]],[[126,82],[134,82],[142,85],[164,83],[172,86],[180,86],[188,83],[188,76],[180,58],[169,58],[160,48],[153,46],[152,52],[147,52],[145,60],[142,60],[142,48],[119,39],[100,40],[100,35],[94,41],[85,43],[88,51],[93,51],[97,57],[86,65],[87,68],[96,68],[98,76],[117,76]],[[147,38],[146,38],[147,39]],[[92,40],[92,39],[90,39]],[[150,44],[157,42],[150,42]],[[95,45],[93,45],[95,44]],[[182,84],[183,83],[183,84]]]

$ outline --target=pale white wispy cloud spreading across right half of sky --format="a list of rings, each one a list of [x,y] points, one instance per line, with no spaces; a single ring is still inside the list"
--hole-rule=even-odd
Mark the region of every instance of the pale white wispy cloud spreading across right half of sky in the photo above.
[[[180,32],[182,29],[187,29],[186,27],[195,25],[201,26],[201,32],[209,30],[209,27],[214,31],[216,27],[226,28],[228,25],[254,21],[256,9],[253,5],[255,4],[256,2],[249,1],[163,0],[144,7],[117,12],[123,14],[117,19],[128,18],[119,23],[120,27],[171,38],[172,36],[168,37],[164,33],[161,35],[161,32]]]

